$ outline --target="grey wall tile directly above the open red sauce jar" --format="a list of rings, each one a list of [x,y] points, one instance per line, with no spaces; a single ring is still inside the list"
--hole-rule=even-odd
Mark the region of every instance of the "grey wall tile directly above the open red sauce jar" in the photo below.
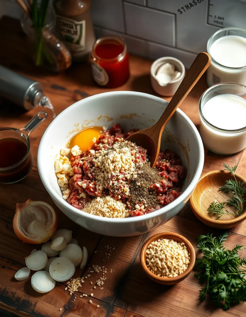
[[[92,0],[91,14],[95,25],[124,32],[122,0]]]

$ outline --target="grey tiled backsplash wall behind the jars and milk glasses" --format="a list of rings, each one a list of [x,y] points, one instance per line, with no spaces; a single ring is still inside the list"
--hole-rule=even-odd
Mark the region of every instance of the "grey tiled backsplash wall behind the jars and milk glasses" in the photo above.
[[[2,7],[1,7],[2,5]],[[0,0],[15,18],[14,0]],[[152,59],[170,55],[190,66],[208,38],[227,26],[246,29],[246,0],[91,0],[95,35],[123,36],[129,52]]]

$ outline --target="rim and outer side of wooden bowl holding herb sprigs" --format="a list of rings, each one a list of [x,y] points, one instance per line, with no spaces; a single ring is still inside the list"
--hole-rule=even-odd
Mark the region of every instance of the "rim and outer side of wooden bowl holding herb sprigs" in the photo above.
[[[211,222],[211,223],[216,223],[216,224],[218,224],[218,223],[222,223],[222,224],[237,223],[238,221],[240,221],[240,220],[242,220],[242,219],[244,219],[244,218],[246,217],[246,209],[244,210],[244,212],[242,213],[242,215],[240,215],[240,216],[238,216],[238,217],[236,217],[236,218],[234,218],[234,219],[231,219],[231,220],[215,220],[215,219],[211,219],[211,218],[208,217],[208,216],[205,216],[204,213],[201,213],[200,210],[197,208],[195,202],[194,202],[194,194],[195,194],[195,191],[196,191],[196,189],[197,189],[197,186],[198,186],[199,182],[200,182],[203,178],[207,178],[210,174],[220,174],[220,173],[223,173],[223,174],[231,174],[231,172],[225,171],[225,170],[214,170],[214,171],[207,172],[207,173],[203,174],[203,175],[200,177],[200,179],[199,179],[199,181],[198,181],[198,183],[197,183],[197,185],[196,185],[196,188],[195,188],[195,190],[193,191],[193,193],[192,193],[192,195],[191,195],[191,197],[190,197],[191,209],[192,209],[192,211],[194,212],[194,214],[197,214],[197,215],[198,215],[199,217],[201,217],[202,219],[204,219],[204,220],[206,220],[206,221],[208,221],[208,222]],[[243,176],[241,176],[241,175],[239,175],[239,174],[237,174],[237,173],[235,173],[235,176],[237,176],[238,178],[241,179],[241,181],[243,181],[244,183],[246,183],[246,179],[245,179]]]

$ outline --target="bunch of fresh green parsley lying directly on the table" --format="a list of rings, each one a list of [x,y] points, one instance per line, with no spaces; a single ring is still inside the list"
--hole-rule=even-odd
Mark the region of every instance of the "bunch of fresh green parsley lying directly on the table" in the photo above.
[[[240,301],[246,301],[246,259],[240,259],[238,251],[242,245],[236,245],[232,250],[224,248],[228,232],[213,237],[212,234],[200,235],[197,239],[198,249],[203,252],[201,259],[196,259],[195,273],[200,283],[205,286],[200,289],[199,299],[203,301],[209,294],[216,307],[224,310]]]

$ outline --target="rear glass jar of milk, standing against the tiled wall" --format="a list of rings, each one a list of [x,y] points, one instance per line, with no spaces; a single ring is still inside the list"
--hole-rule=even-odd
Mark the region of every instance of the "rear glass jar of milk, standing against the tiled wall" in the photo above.
[[[211,64],[207,69],[208,86],[219,82],[246,85],[246,30],[224,28],[207,42]]]

